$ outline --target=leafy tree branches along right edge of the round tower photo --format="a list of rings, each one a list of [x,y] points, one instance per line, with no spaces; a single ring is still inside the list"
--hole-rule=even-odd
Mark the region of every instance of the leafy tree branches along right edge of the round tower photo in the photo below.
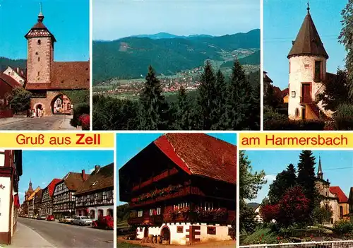
[[[348,0],[347,5],[341,12],[342,30],[338,37],[341,44],[345,46],[347,51],[346,68],[347,68],[347,85],[349,88],[349,98],[353,99],[353,0]]]

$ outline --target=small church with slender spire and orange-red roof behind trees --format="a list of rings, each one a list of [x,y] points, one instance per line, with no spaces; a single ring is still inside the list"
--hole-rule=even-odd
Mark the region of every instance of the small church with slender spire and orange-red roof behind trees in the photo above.
[[[322,196],[321,206],[328,204],[333,211],[330,224],[339,220],[348,220],[349,203],[348,198],[339,186],[330,186],[330,182],[323,179],[323,168],[321,158],[318,159],[318,174],[316,180],[316,189]]]

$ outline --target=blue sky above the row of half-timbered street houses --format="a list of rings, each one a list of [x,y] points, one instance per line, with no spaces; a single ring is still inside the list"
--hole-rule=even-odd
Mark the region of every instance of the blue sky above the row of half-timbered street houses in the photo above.
[[[85,170],[90,174],[95,165],[114,162],[113,150],[23,150],[23,175],[20,177],[20,203],[32,180],[33,189],[44,189],[54,178],[63,178],[68,172]]]

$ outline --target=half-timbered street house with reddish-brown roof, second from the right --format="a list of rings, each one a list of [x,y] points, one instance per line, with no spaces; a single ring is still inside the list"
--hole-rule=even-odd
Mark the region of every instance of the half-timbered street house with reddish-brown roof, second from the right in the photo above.
[[[53,194],[53,213],[56,219],[65,215],[75,215],[75,192],[89,175],[85,174],[85,170],[81,173],[68,172],[66,176],[55,185]]]

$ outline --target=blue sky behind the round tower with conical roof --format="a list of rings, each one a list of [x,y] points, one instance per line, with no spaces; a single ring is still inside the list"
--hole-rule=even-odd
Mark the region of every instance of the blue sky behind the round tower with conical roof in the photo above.
[[[264,0],[263,2],[263,69],[281,89],[288,87],[289,60],[301,23],[306,16],[306,0]],[[310,1],[310,13],[328,52],[327,71],[336,73],[345,65],[345,48],[338,43],[341,11],[347,0]]]

